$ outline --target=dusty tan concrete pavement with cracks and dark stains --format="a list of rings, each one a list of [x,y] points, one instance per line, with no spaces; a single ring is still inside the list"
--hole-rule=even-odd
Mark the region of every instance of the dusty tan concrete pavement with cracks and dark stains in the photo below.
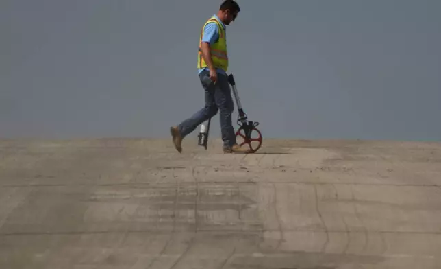
[[[441,143],[0,141],[0,268],[441,268]]]

